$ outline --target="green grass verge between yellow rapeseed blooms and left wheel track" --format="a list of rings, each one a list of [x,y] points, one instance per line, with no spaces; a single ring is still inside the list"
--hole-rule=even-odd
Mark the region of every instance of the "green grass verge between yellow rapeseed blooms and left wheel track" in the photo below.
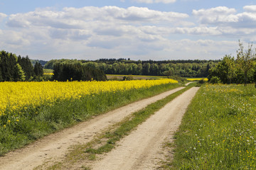
[[[0,128],[0,156],[10,150],[27,145],[38,138],[52,132],[62,130],[93,115],[99,115],[127,103],[154,96],[161,92],[174,89],[178,84],[164,84],[149,89],[132,89],[129,91],[105,92],[97,95],[86,95],[80,99],[43,103],[33,108],[26,106],[21,111],[6,111],[0,117],[0,123],[11,120],[6,128]],[[22,113],[22,114],[19,114]],[[19,115],[18,123],[15,115]]]

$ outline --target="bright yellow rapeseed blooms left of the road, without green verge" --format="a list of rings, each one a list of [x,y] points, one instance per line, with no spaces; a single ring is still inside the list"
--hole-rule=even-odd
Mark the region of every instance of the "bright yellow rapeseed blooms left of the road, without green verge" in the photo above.
[[[85,95],[105,91],[127,91],[149,88],[160,84],[175,84],[173,79],[134,80],[134,81],[44,81],[44,82],[1,82],[0,116],[6,108],[17,110],[26,106],[36,107],[56,100],[81,98]]]

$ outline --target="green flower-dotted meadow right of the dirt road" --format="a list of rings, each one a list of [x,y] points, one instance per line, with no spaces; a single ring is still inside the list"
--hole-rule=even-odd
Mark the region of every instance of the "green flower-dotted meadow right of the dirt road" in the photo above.
[[[169,169],[256,169],[256,89],[206,85],[176,134]]]

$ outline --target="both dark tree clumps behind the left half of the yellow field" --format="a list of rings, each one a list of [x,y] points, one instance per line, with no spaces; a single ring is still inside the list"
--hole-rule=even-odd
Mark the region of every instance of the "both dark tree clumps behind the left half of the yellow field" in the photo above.
[[[34,64],[32,64],[32,62]],[[30,60],[28,56],[18,57],[6,51],[0,52],[0,81],[105,81],[107,77],[100,69],[87,67],[82,62],[59,62],[53,66],[54,76],[43,76],[42,60]]]

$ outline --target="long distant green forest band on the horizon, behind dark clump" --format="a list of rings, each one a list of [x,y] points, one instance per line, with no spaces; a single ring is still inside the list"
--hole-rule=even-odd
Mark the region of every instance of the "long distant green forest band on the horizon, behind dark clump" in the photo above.
[[[184,61],[132,61],[132,60],[50,60],[46,69],[54,69],[58,63],[80,62],[86,67],[100,69],[105,74],[149,75],[149,76],[179,76],[179,77],[207,77],[208,71],[218,63],[218,60],[186,60]]]

